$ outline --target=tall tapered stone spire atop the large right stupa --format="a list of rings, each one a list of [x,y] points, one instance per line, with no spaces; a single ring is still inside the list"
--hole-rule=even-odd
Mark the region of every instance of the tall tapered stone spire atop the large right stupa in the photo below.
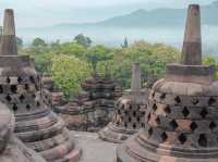
[[[198,4],[191,4],[187,10],[181,63],[185,65],[202,64],[201,11]]]

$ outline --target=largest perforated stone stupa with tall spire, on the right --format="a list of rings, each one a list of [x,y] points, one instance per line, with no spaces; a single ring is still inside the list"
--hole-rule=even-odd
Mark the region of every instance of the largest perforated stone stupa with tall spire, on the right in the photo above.
[[[202,65],[199,5],[189,8],[180,64],[150,92],[145,128],[118,147],[118,162],[218,161],[218,82]]]

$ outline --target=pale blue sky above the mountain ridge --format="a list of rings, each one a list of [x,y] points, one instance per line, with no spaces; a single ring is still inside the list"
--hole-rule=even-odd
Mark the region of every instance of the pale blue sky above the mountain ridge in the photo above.
[[[98,22],[138,9],[186,8],[215,0],[0,0],[0,15],[14,9],[17,27],[52,26],[62,23]],[[2,18],[1,18],[2,22]]]

